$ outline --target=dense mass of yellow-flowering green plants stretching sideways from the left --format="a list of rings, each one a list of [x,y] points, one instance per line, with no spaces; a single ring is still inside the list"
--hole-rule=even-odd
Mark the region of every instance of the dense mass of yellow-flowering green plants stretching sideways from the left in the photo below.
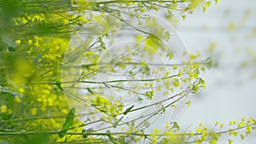
[[[196,94],[206,88],[200,72],[214,66],[211,59],[198,60],[199,53],[184,54],[188,60],[168,65],[132,59],[133,56],[139,59],[149,56],[154,61],[157,53],[174,61],[176,56],[166,51],[169,48],[163,43],[172,38],[172,33],[158,26],[157,20],[147,13],[165,10],[166,17],[172,18],[172,13],[180,11],[184,19],[198,7],[205,11],[210,4],[204,0],[1,1],[0,143],[209,141],[214,144],[222,134],[240,135],[241,138],[249,135],[255,129],[253,118],[242,118],[241,123],[230,121],[230,126],[237,124],[236,127],[220,132],[208,130],[202,124],[195,132],[181,131],[176,122],[166,124],[165,130],[145,132],[151,118],[169,112],[170,108],[175,109],[177,101],[190,92]],[[121,52],[111,51],[112,43],[119,41],[117,36],[122,36],[119,30],[127,27],[135,31],[131,36],[136,43],[121,47]],[[81,66],[77,66],[81,57],[85,63],[79,61]],[[152,67],[157,68],[153,71]],[[127,79],[120,78],[119,72],[127,69]],[[115,80],[104,79],[106,73],[116,76]],[[151,77],[159,73],[159,77]],[[102,78],[96,79],[96,74],[102,74]],[[78,93],[81,87],[88,92],[86,95]],[[138,102],[149,102],[143,107],[134,103],[127,105],[106,89],[117,89],[122,95],[125,92],[134,96]],[[161,89],[166,90],[162,92]],[[164,99],[157,100],[158,96]],[[86,113],[70,109],[72,106],[68,105],[72,103],[84,108]],[[189,107],[190,103],[187,101],[186,105]],[[141,118],[125,120],[147,108],[154,111],[145,111]],[[92,124],[104,127],[93,129],[90,128]],[[115,132],[118,129],[120,131]],[[241,129],[245,130],[244,134],[239,132]]]

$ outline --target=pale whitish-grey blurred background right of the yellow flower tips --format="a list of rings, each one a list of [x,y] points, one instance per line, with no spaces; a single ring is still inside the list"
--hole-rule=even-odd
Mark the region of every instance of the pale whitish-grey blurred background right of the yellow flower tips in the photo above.
[[[190,53],[212,57],[218,64],[207,70],[207,89],[191,96],[191,106],[177,118],[183,130],[198,122],[214,129],[216,121],[229,125],[241,117],[255,118],[256,1],[223,0],[205,13],[197,9],[175,26]],[[216,130],[216,128],[215,128]],[[230,135],[218,143],[227,143]],[[253,144],[256,133],[236,144]]]

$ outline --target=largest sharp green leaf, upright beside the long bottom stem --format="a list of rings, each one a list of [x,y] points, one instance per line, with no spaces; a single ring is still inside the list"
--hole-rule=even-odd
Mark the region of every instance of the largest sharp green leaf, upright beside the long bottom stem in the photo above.
[[[67,130],[69,130],[70,127],[72,126],[74,113],[75,113],[75,108],[71,108],[67,114],[65,123],[62,125],[62,130],[59,133],[59,137],[62,138],[64,135],[66,135]]]

